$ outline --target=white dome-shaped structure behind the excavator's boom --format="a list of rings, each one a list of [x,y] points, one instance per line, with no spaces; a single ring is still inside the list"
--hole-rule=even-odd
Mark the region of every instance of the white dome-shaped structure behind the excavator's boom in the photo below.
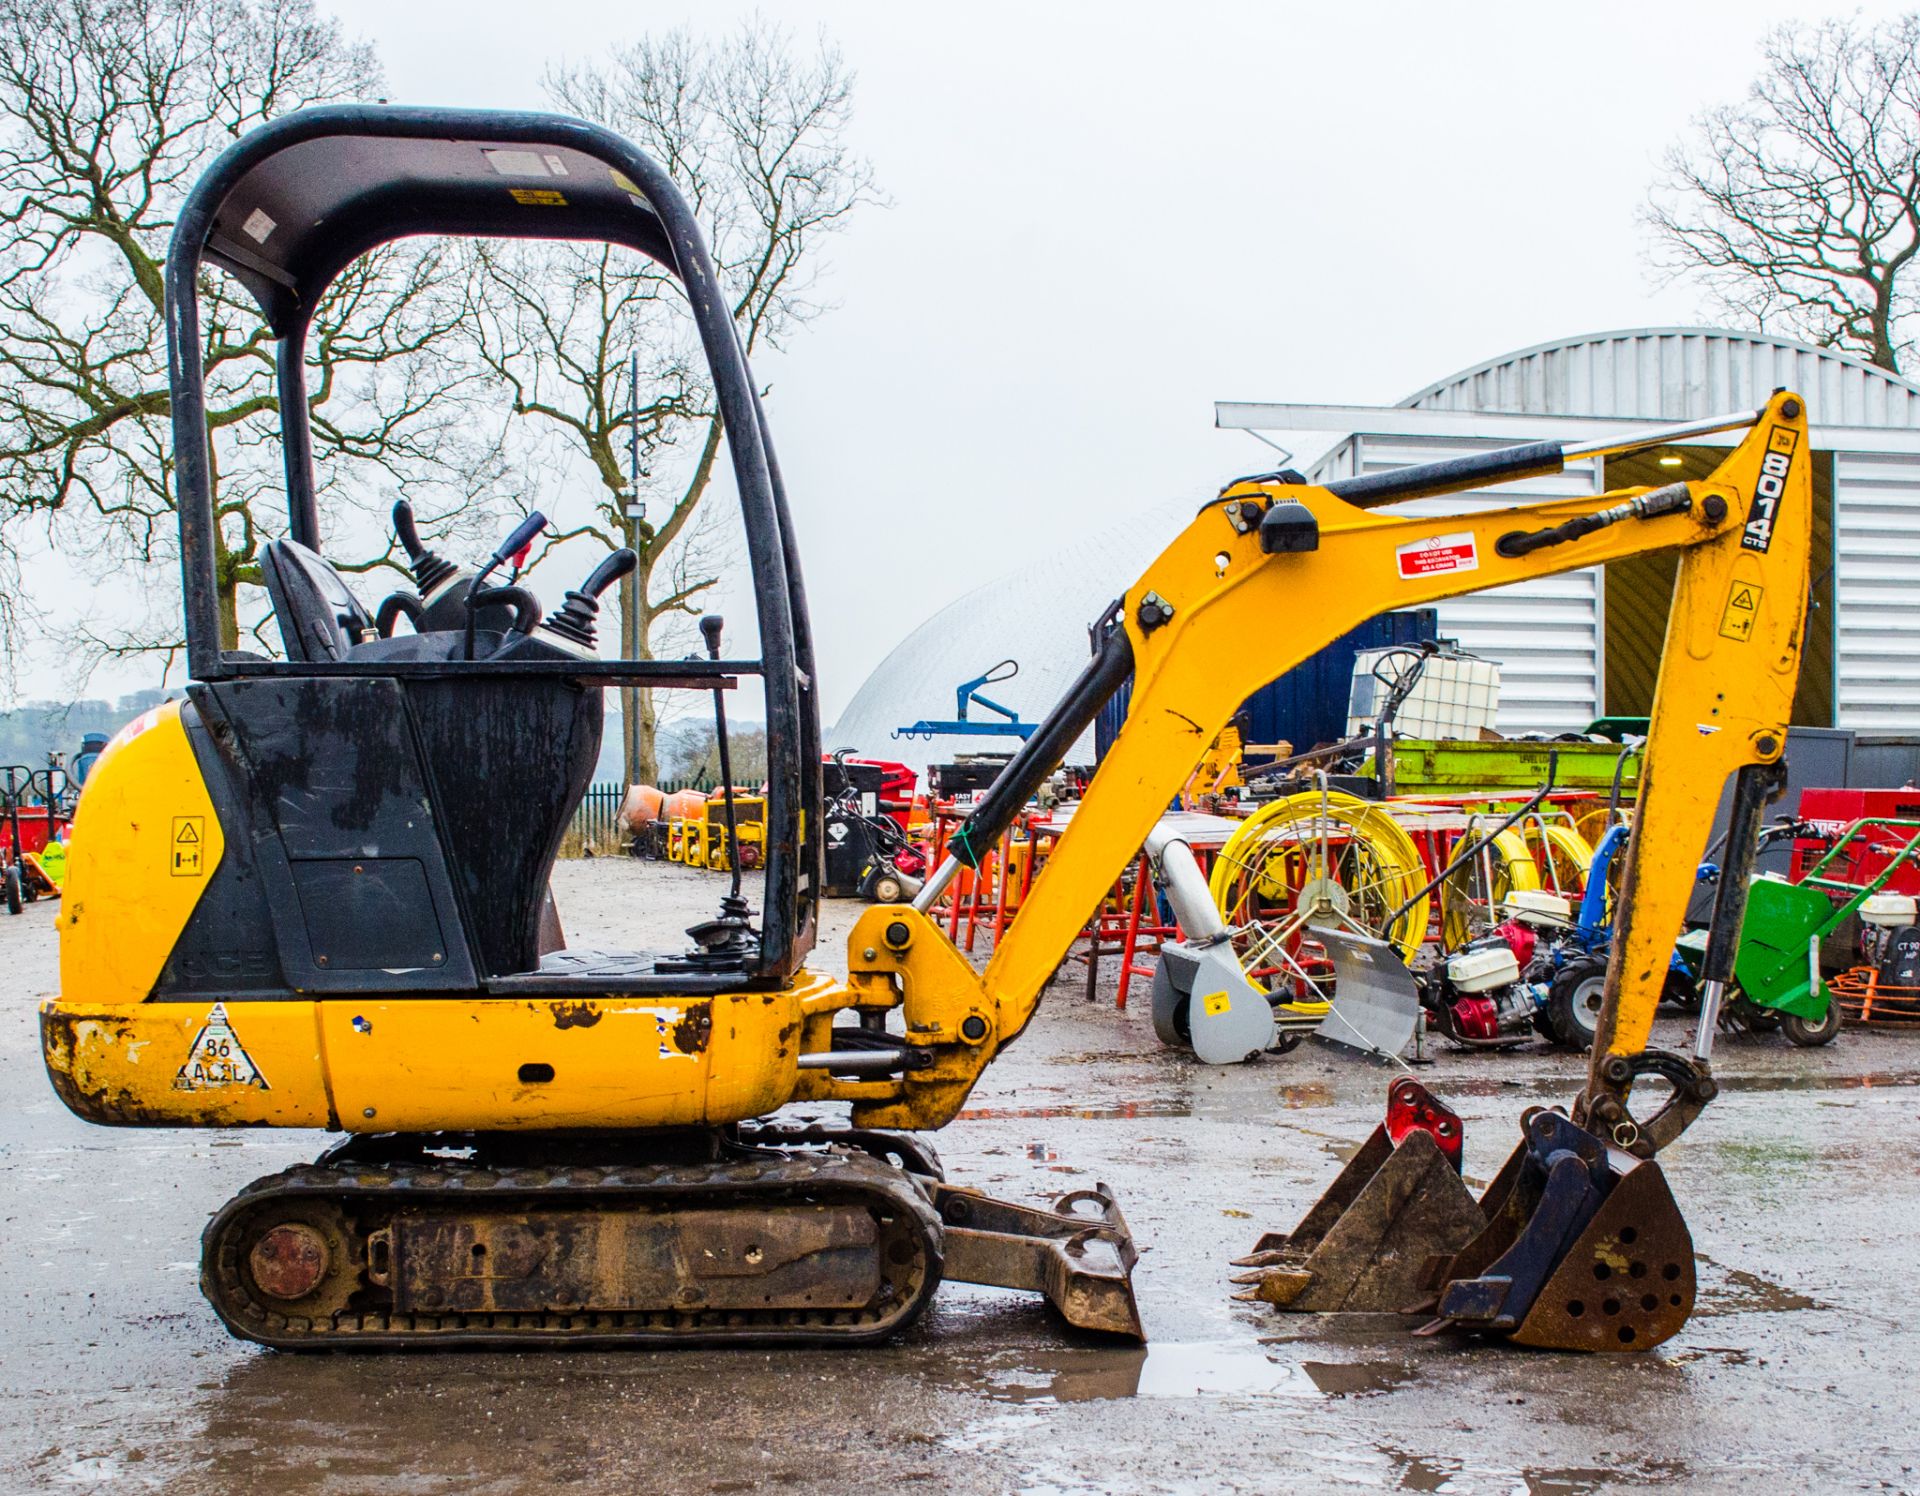
[[[1014,736],[895,737],[910,722],[954,714],[954,689],[998,661],[1020,663],[1012,680],[983,686],[1023,722],[1039,722],[1066,693],[1091,657],[1087,628],[1131,588],[1160,551],[1173,543],[1200,499],[1173,501],[1129,519],[1100,520],[1100,532],[1041,557],[956,603],[908,634],[883,659],[826,734],[826,747],[860,757],[897,759],[918,772],[962,753],[1012,753]],[[993,722],[979,707],[968,720]],[[1068,762],[1092,762],[1089,730]]]

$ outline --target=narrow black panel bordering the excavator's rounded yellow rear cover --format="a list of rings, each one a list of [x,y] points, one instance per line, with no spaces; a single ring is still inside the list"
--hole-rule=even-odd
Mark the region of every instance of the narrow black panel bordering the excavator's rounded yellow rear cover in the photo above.
[[[200,716],[198,699],[204,689],[194,688],[194,701],[180,712],[180,722],[213,797],[227,851],[159,972],[154,997],[161,1002],[292,997],[294,991],[280,974],[267,887],[253,855],[253,816],[232,764],[219,753]]]

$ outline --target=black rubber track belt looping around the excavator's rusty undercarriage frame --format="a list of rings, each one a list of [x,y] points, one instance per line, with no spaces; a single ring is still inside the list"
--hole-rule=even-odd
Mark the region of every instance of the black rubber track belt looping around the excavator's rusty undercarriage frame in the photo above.
[[[689,1208],[764,1202],[870,1200],[883,1216],[902,1221],[881,1244],[902,1233],[920,1256],[887,1264],[897,1292],[864,1310],[649,1310],[545,1314],[392,1314],[349,1308],[328,1317],[288,1315],[257,1298],[240,1271],[248,1227],[282,1202],[323,1200],[340,1206],[355,1225],[357,1262],[365,1266],[367,1235],[392,1218],[428,1202],[478,1200],[501,1214],[540,1208],[572,1210],[593,1204],[674,1202]],[[904,1281],[904,1291],[902,1291]],[[202,1235],[200,1289],[244,1340],[280,1350],[405,1348],[405,1346],[660,1346],[660,1344],[864,1344],[910,1325],[941,1281],[941,1221],[925,1194],[899,1168],[866,1152],[755,1152],[714,1164],[486,1168],[484,1164],[303,1164],[255,1179],[227,1202]],[[365,1283],[355,1298],[384,1298]]]

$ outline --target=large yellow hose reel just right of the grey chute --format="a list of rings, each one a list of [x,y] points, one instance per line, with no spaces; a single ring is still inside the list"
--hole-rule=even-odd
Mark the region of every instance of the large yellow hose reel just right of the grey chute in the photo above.
[[[1248,976],[1273,989],[1306,976],[1298,956],[1309,922],[1388,939],[1411,960],[1427,939],[1428,899],[1415,899],[1425,881],[1419,847],[1384,805],[1308,789],[1242,822],[1213,860],[1210,889],[1244,931]]]

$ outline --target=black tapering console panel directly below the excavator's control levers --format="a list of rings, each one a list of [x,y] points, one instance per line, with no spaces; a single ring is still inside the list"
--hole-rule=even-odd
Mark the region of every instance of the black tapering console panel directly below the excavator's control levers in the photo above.
[[[480,970],[532,972],[553,858],[599,759],[601,693],[486,676],[405,691]]]

